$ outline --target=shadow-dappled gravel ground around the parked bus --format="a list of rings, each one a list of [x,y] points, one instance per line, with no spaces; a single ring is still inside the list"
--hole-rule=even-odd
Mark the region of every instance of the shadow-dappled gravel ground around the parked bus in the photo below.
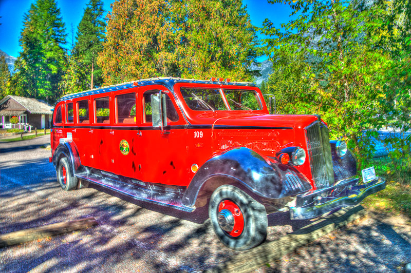
[[[0,233],[94,217],[99,225],[0,248],[0,272],[193,272],[236,251],[214,235],[206,210],[185,213],[140,207],[95,188],[66,192],[42,148],[50,136],[0,143]],[[130,200],[128,200],[130,201]],[[409,220],[371,214],[298,248],[256,272],[398,272],[410,261]],[[379,220],[380,219],[380,220]],[[189,221],[188,221],[189,220]],[[270,215],[272,241],[309,221]]]

